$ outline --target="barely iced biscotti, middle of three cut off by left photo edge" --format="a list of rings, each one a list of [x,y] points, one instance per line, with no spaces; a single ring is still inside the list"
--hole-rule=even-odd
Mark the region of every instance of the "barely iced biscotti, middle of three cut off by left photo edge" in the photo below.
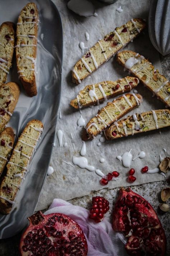
[[[14,112],[19,94],[19,86],[16,83],[9,82],[0,86],[0,133]]]

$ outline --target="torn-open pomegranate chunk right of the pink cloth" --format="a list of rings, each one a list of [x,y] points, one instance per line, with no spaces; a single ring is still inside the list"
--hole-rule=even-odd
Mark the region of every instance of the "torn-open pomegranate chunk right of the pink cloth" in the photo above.
[[[113,210],[113,229],[128,237],[125,248],[129,255],[165,255],[165,232],[156,212],[130,188],[119,190]]]

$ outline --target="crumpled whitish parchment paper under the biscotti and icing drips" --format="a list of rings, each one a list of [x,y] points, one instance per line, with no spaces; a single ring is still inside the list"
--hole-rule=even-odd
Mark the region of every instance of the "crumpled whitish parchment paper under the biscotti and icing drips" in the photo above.
[[[89,194],[91,190],[103,188],[99,183],[101,177],[98,176],[95,171],[90,172],[78,166],[72,167],[62,162],[66,161],[72,163],[73,156],[80,156],[82,146],[82,128],[76,130],[80,112],[72,108],[69,103],[86,85],[104,80],[114,81],[127,76],[128,73],[123,72],[123,68],[112,58],[90,77],[86,78],[80,85],[76,86],[71,82],[70,71],[77,60],[82,56],[81,49],[79,48],[80,42],[84,42],[85,46],[90,48],[99,38],[103,38],[104,35],[113,31],[115,27],[121,26],[131,18],[147,19],[149,11],[148,0],[119,0],[111,5],[103,5],[95,1],[98,17],[84,18],[69,11],[66,7],[67,1],[56,0],[53,2],[60,11],[64,33],[63,84],[60,103],[61,119],[58,118],[57,130],[60,129],[63,131],[63,144],[67,142],[68,146],[63,147],[62,144],[62,146],[59,147],[58,139],[55,139],[56,147],[53,148],[50,164],[55,171],[51,176],[47,176],[37,210],[46,208],[50,205],[53,198],[68,200]],[[120,5],[123,8],[122,13],[116,11]],[[57,24],[54,24],[54,26],[57,26]],[[85,39],[85,32],[88,32],[90,35],[89,41]],[[149,58],[154,66],[161,71],[159,53],[150,42],[147,29],[135,39],[133,43],[126,46],[125,49],[136,51]],[[138,93],[143,96],[143,103],[129,114],[165,108],[165,105],[156,97],[153,98],[152,93],[142,84],[139,84],[136,89]],[[109,101],[112,100],[110,99]],[[106,105],[106,103],[95,106],[94,108],[82,109],[82,116],[86,120],[86,123],[91,117],[95,116],[98,109],[104,105]],[[70,133],[72,133],[72,139]],[[120,172],[117,181],[110,181],[108,185],[104,187],[114,188],[131,185],[127,182],[129,169],[123,167],[122,163],[116,158],[118,155],[122,155],[131,148],[133,157],[137,156],[140,151],[146,152],[144,159],[137,158],[135,161],[132,161],[131,167],[136,170],[135,176],[137,178],[133,185],[165,179],[165,177],[160,174],[142,174],[141,168],[147,165],[149,169],[154,169],[159,165],[159,154],[161,153],[161,155],[165,157],[170,153],[163,151],[163,148],[169,150],[168,128],[162,129],[161,134],[159,130],[155,130],[148,133],[124,137],[112,142],[104,142],[98,147],[97,144],[100,136],[101,135],[93,141],[86,142],[87,153],[85,157],[88,159],[89,165],[95,166],[96,169],[100,169],[104,174],[114,170]],[[75,144],[75,151],[73,143]],[[99,162],[100,157],[105,158],[104,163]],[[167,175],[167,178],[168,176],[169,175]]]

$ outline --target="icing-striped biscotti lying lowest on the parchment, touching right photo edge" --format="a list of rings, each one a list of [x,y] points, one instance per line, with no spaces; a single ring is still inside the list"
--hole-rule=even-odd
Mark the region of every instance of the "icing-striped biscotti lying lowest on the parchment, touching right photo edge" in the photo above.
[[[107,140],[113,140],[166,126],[170,126],[170,110],[152,110],[141,114],[133,114],[115,122],[114,125],[104,131],[104,135]]]

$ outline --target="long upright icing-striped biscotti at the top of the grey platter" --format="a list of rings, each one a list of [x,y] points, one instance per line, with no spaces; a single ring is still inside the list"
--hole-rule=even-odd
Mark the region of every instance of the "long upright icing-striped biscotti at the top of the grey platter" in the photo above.
[[[19,78],[29,96],[37,94],[36,53],[38,35],[38,10],[34,3],[22,9],[16,28],[16,64]]]

